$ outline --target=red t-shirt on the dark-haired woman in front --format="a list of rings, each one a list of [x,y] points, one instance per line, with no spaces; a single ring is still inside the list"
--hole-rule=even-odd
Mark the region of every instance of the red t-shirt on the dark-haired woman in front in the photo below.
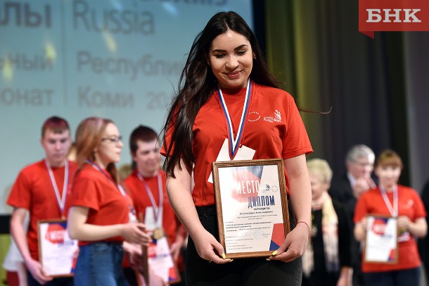
[[[240,125],[246,88],[238,94],[223,92],[231,115],[234,136]],[[241,144],[256,150],[253,159],[293,158],[311,153],[307,131],[295,101],[288,92],[252,82],[248,116],[245,120]],[[218,92],[200,108],[193,124],[193,168],[195,187],[192,197],[196,206],[214,204],[213,184],[208,182],[212,162],[228,138],[226,118]],[[168,140],[168,138],[167,138]],[[165,156],[165,149],[161,150]],[[288,174],[286,185],[289,187]]]

